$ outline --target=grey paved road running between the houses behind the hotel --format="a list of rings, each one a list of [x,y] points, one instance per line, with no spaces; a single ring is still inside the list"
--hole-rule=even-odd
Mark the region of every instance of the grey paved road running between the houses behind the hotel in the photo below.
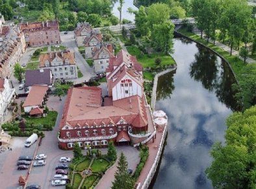
[[[77,45],[75,44],[74,32],[68,32],[68,34],[60,32],[60,38],[62,40],[62,45],[67,45],[71,51],[75,52],[77,66],[83,73],[82,78],[77,78],[71,81],[75,83],[82,83],[84,82],[84,80],[88,81],[92,76],[96,76],[96,74],[94,73],[94,68],[90,67],[86,60],[84,60],[83,56],[80,54]]]

